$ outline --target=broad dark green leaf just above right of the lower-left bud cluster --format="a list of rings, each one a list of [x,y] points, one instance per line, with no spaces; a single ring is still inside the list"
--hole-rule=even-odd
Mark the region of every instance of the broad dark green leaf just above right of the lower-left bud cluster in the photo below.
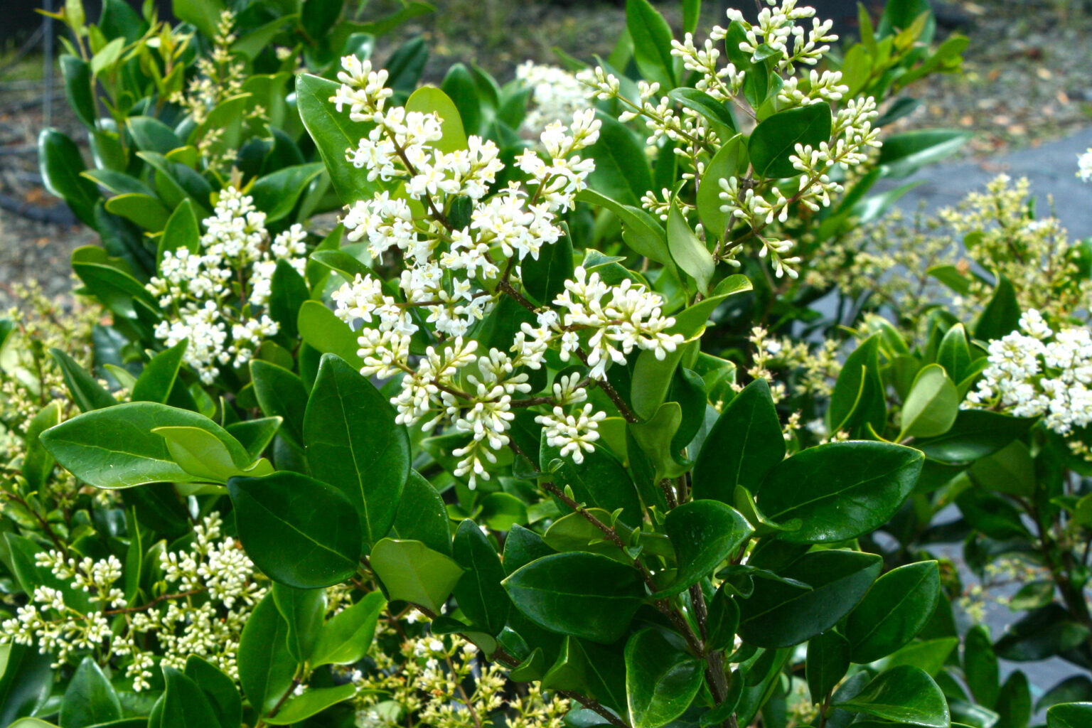
[[[297,473],[227,482],[247,554],[270,578],[301,589],[356,573],[360,524],[333,486]]]

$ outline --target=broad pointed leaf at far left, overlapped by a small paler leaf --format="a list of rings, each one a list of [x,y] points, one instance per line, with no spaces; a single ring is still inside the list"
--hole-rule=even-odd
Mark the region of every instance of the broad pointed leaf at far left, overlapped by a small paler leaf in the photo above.
[[[41,433],[41,442],[81,480],[96,488],[131,488],[149,482],[200,482],[179,467],[157,427],[204,430],[228,449],[235,463],[249,463],[242,446],[212,420],[176,407],[132,402],[84,413]]]

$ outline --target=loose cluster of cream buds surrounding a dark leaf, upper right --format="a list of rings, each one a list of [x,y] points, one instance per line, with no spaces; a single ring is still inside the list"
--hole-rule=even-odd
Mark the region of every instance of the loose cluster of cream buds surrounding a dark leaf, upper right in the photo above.
[[[816,20],[815,9],[797,7],[797,0],[767,0],[770,8],[763,8],[759,13],[758,23],[751,25],[737,10],[728,10],[727,17],[743,25],[746,38],[739,41],[739,50],[747,53],[769,52],[778,57],[776,72],[782,76],[778,93],[778,110],[786,110],[799,106],[808,106],[820,102],[839,102],[848,92],[842,83],[842,74],[838,71],[823,71],[821,74],[809,69],[806,75],[793,75],[797,64],[815,65],[827,51],[830,44],[838,39],[830,33],[831,21]],[[810,29],[797,21],[811,19]],[[709,39],[703,45],[696,46],[693,37],[687,34],[682,41],[672,41],[672,55],[681,59],[687,71],[699,74],[695,86],[721,103],[734,104],[740,112],[756,119],[756,110],[743,98],[747,73],[733,63],[720,64],[721,50],[717,41],[725,40],[729,31],[714,26]],[[752,61],[755,57],[752,56]],[[878,131],[873,129],[877,117],[876,102],[868,97],[863,100],[850,99],[844,108],[839,109],[832,119],[831,141],[822,142],[817,148],[797,144],[796,154],[792,157],[793,166],[798,172],[795,189],[787,184],[779,187],[772,180],[739,179],[705,179],[705,165],[702,159],[705,153],[715,152],[727,139],[721,139],[717,129],[704,116],[690,108],[676,109],[676,103],[660,96],[660,84],[639,82],[639,98],[628,99],[621,95],[621,84],[614,75],[602,68],[582,72],[578,79],[591,87],[591,94],[601,99],[618,99],[627,110],[619,117],[629,121],[643,117],[650,131],[646,144],[654,154],[662,151],[664,141],[674,144],[674,153],[689,159],[690,171],[684,172],[686,179],[697,179],[703,184],[715,184],[721,189],[721,211],[732,215],[738,223],[746,223],[751,232],[731,246],[719,246],[715,254],[719,260],[739,265],[735,260],[739,247],[746,240],[755,238],[760,244],[761,258],[769,258],[778,277],[788,275],[796,277],[794,265],[799,262],[796,256],[787,256],[793,249],[792,240],[778,239],[763,232],[764,228],[775,220],[784,223],[791,205],[799,203],[811,211],[820,206],[829,206],[831,195],[842,192],[842,186],[832,181],[830,174],[835,165],[851,167],[866,159],[871,147],[878,147]],[[663,215],[664,203],[654,194],[642,199],[645,207],[655,215]],[[724,230],[713,231],[722,238]]]

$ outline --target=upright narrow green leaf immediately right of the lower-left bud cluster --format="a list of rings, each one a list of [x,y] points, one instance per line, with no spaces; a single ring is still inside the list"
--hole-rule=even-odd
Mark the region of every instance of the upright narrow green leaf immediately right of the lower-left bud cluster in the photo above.
[[[288,624],[281,617],[273,595],[258,602],[239,639],[239,684],[247,700],[264,712],[292,689],[296,660],[288,654]]]

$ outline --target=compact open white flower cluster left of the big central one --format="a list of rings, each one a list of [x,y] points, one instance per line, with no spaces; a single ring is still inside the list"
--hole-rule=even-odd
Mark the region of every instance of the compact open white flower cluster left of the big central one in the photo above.
[[[307,234],[299,225],[270,239],[265,213],[253,199],[225,188],[214,215],[203,220],[198,252],[166,251],[159,275],[146,284],[166,313],[155,336],[166,346],[188,339],[186,363],[211,384],[219,368],[244,367],[278,325],[262,310],[273,272],[285,260],[302,275]]]

